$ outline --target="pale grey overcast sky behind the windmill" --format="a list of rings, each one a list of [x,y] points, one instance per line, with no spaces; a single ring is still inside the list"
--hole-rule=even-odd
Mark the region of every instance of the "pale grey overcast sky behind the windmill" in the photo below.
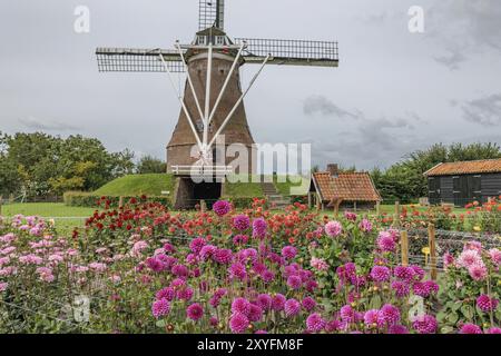
[[[90,33],[73,30],[90,9]],[[425,32],[407,30],[411,6]],[[0,131],[98,137],[165,158],[179,105],[163,73],[98,73],[96,47],[191,41],[197,0],[0,0]],[[386,167],[433,142],[501,142],[501,1],[226,0],[230,37],[337,40],[340,68],[267,67],[246,99],[257,142]],[[257,70],[243,69],[244,81]],[[245,86],[245,83],[244,83]]]

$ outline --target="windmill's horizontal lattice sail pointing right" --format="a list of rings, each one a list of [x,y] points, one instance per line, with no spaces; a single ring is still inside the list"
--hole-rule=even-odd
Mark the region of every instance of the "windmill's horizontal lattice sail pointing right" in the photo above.
[[[244,59],[248,63],[262,62],[271,55],[269,65],[337,67],[337,42],[236,38],[245,42]]]

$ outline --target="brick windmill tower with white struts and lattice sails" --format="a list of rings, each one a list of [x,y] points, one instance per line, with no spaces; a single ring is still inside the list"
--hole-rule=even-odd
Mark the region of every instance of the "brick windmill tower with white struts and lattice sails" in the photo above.
[[[337,42],[230,38],[224,23],[224,0],[199,0],[199,28],[189,44],[176,41],[174,49],[96,51],[101,72],[166,72],[175,89],[174,75],[186,73],[184,96],[178,97],[181,111],[167,145],[168,170],[178,175],[191,171],[194,165],[217,170],[219,158],[214,147],[222,135],[226,146],[242,144],[252,149],[254,139],[243,101],[266,65],[338,65]],[[245,90],[239,76],[243,65],[259,66]],[[223,165],[227,170],[226,160]]]

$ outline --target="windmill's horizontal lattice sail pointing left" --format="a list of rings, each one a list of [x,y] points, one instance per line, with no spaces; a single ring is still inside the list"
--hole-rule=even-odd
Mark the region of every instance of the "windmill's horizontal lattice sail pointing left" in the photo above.
[[[96,56],[101,72],[165,72],[159,56],[164,57],[171,72],[184,72],[179,52],[166,49],[98,48]]]

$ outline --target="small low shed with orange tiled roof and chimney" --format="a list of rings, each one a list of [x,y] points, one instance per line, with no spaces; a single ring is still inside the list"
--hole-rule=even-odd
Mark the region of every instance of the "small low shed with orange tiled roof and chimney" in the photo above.
[[[313,174],[308,198],[311,205],[334,210],[373,209],[382,201],[367,172],[340,172],[337,165]]]

